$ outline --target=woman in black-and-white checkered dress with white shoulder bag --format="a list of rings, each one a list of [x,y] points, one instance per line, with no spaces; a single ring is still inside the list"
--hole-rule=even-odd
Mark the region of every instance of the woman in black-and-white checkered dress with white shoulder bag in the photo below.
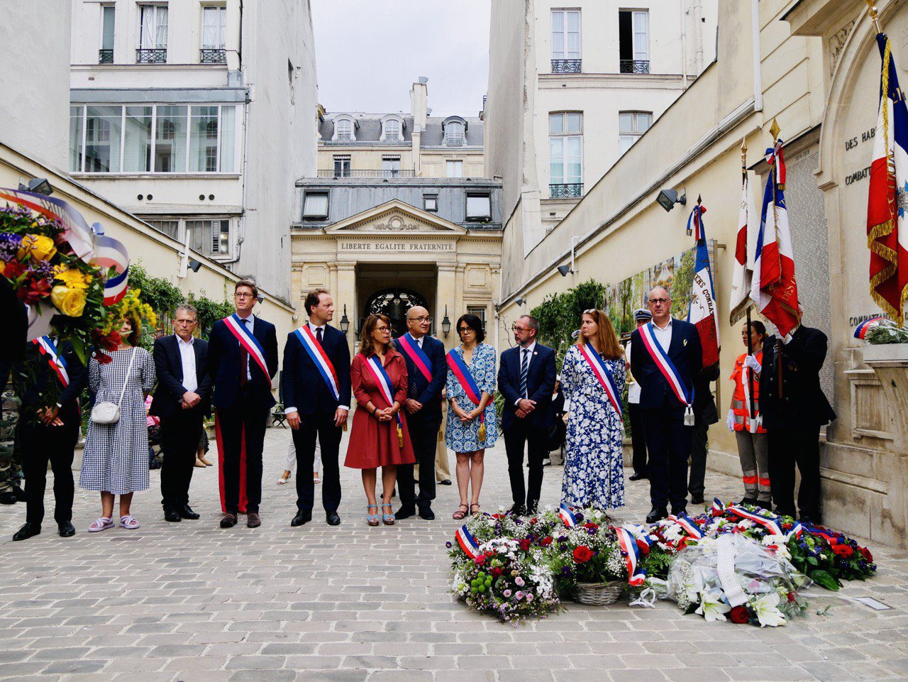
[[[135,490],[147,490],[148,428],[145,421],[145,396],[154,388],[154,361],[151,353],[138,347],[141,329],[138,321],[126,319],[120,329],[120,347],[107,353],[105,364],[96,359],[88,364],[88,388],[94,402],[120,400],[126,370],[135,354],[129,381],[120,403],[120,419],[114,424],[88,421],[79,488],[101,491],[101,517],[88,527],[97,532],[114,527],[114,495],[120,496],[120,527],[139,528],[129,512]]]

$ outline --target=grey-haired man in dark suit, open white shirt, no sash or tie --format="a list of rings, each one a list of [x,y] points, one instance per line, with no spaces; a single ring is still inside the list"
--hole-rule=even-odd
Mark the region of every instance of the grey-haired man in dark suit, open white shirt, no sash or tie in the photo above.
[[[189,484],[202,421],[211,412],[212,378],[208,374],[208,341],[194,339],[199,313],[189,303],[173,313],[173,335],[154,341],[158,389],[151,413],[161,418],[161,504],[164,519],[198,519],[189,506]]]

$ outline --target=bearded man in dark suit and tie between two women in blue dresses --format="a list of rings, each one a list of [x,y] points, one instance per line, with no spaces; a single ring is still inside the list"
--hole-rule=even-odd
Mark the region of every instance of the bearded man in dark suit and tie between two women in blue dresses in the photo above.
[[[511,328],[517,346],[501,353],[498,390],[505,399],[501,430],[508,453],[508,477],[515,514],[533,513],[542,490],[542,460],[548,456],[548,430],[555,423],[555,351],[537,343],[539,322],[519,317]],[[523,450],[527,448],[529,475],[523,481]]]

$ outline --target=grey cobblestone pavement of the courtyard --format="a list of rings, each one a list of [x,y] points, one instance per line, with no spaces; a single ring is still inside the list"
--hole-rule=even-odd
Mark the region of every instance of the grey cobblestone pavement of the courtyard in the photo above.
[[[137,531],[89,535],[94,494],[77,491],[73,539],[48,509],[44,533],[12,542],[25,506],[0,508],[0,678],[18,682],[719,682],[908,678],[908,555],[873,546],[879,576],[844,594],[893,606],[873,611],[816,598],[786,628],[707,624],[674,604],[569,605],[517,628],[451,598],[444,542],[457,523],[453,487],[439,519],[368,528],[357,472],[342,470],[343,523],[317,514],[291,529],[295,492],[277,486],[289,430],[268,432],[262,528],[217,527],[217,474],[195,469],[198,521],[169,524],[152,490],[136,495]],[[501,442],[499,440],[499,442]],[[342,449],[341,451],[343,451]],[[487,455],[486,509],[509,499],[503,446]],[[543,502],[561,469],[546,470]],[[48,498],[50,497],[48,485]],[[617,517],[641,520],[646,482],[628,483]],[[709,474],[710,497],[740,494]],[[48,522],[49,521],[49,522]],[[831,608],[823,615],[817,611]]]

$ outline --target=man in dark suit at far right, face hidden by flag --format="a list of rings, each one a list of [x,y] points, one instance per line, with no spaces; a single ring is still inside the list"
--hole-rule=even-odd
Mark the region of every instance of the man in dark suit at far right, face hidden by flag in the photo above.
[[[763,344],[760,411],[769,445],[775,512],[795,516],[795,464],[801,472],[797,506],[802,520],[820,523],[820,427],[835,412],[820,388],[826,335],[800,325],[784,339]]]

